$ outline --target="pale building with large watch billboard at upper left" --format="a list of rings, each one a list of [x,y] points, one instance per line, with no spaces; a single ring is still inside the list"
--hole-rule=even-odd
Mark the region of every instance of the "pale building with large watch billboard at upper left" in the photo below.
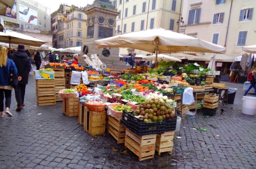
[[[2,19],[6,29],[46,41],[52,46],[51,9],[33,0],[16,0]]]

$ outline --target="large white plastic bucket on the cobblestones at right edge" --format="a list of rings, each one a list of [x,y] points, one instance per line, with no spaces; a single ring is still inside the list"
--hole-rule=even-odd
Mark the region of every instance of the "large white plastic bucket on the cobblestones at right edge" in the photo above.
[[[251,96],[243,96],[242,113],[246,115],[256,114],[256,98]]]

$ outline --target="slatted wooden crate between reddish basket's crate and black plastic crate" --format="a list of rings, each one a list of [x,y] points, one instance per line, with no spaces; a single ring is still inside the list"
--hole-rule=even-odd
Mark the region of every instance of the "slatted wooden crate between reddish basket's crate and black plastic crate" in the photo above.
[[[125,126],[120,124],[118,117],[109,116],[108,132],[117,140],[117,143],[125,143]]]

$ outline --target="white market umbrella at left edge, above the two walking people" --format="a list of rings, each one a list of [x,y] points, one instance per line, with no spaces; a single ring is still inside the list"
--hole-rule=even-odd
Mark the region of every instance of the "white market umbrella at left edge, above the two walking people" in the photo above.
[[[40,47],[46,43],[43,40],[10,30],[6,31],[6,33],[0,32],[0,41],[2,43],[9,43],[9,52],[11,52],[11,44],[24,44],[33,47]]]

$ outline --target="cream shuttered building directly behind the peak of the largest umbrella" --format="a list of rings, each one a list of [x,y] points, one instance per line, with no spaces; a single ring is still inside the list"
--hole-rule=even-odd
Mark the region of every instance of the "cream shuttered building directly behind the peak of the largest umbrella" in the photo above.
[[[178,32],[181,20],[183,1],[181,0],[117,0],[113,1],[117,7],[117,35],[151,28],[164,28]],[[132,51],[132,50],[130,50]],[[132,51],[133,52],[133,51]],[[148,54],[134,50],[135,53]],[[120,49],[120,53],[128,54],[127,49]]]

